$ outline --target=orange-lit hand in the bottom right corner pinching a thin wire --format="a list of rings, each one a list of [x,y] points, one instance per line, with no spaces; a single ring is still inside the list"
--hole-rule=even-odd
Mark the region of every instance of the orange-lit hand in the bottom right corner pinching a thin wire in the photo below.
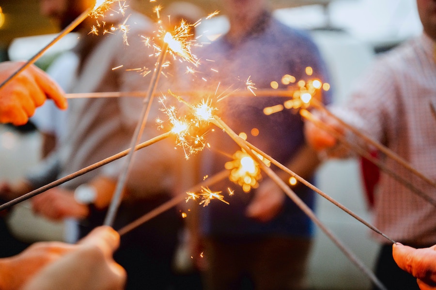
[[[392,256],[401,269],[417,278],[421,290],[436,289],[436,244],[422,249],[393,244]]]

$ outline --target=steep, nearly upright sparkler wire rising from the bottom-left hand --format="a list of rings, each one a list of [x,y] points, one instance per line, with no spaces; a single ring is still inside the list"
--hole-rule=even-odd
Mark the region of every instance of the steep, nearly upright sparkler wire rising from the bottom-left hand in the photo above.
[[[153,72],[152,79],[150,81],[150,86],[148,87],[147,96],[144,99],[144,106],[142,107],[140,119],[138,120],[138,124],[135,129],[135,133],[132,136],[132,140],[130,143],[130,148],[135,148],[136,144],[139,143],[140,137],[142,135],[142,132],[144,130],[145,124],[147,122],[147,117],[150,112],[151,105],[153,103],[153,95],[156,91],[157,82],[159,80],[160,72],[162,70],[162,64],[165,60],[165,55],[168,51],[168,44],[164,42],[162,46],[161,53],[159,55],[159,58],[156,62],[155,71]],[[132,163],[132,157],[133,157],[134,150],[131,150],[127,155],[127,160],[124,164],[124,167],[122,168],[122,171],[120,173],[120,177],[118,178],[118,183],[115,188],[115,194],[112,197],[112,200],[109,205],[109,210],[106,215],[104,225],[106,226],[112,226],[113,221],[115,219],[115,215],[117,212],[118,207],[121,203],[121,197],[123,194],[123,190],[125,187],[125,183],[127,180],[127,175],[130,169],[130,165]]]

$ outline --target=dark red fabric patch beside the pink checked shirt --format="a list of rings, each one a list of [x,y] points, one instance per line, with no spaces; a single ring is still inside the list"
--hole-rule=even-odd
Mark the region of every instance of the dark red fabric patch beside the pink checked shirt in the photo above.
[[[378,158],[378,152],[371,152],[371,156]],[[369,208],[374,207],[374,189],[380,179],[380,169],[366,158],[360,158],[360,170],[365,188],[365,197]]]

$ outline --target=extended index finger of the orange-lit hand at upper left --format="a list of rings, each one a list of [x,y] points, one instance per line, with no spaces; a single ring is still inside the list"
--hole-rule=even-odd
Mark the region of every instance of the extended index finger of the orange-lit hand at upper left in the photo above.
[[[66,109],[68,107],[68,103],[64,97],[61,87],[59,87],[53,79],[44,73],[44,71],[36,66],[31,66],[30,69],[35,76],[37,85],[42,89],[43,92],[45,92],[47,97],[52,99],[57,107]]]

